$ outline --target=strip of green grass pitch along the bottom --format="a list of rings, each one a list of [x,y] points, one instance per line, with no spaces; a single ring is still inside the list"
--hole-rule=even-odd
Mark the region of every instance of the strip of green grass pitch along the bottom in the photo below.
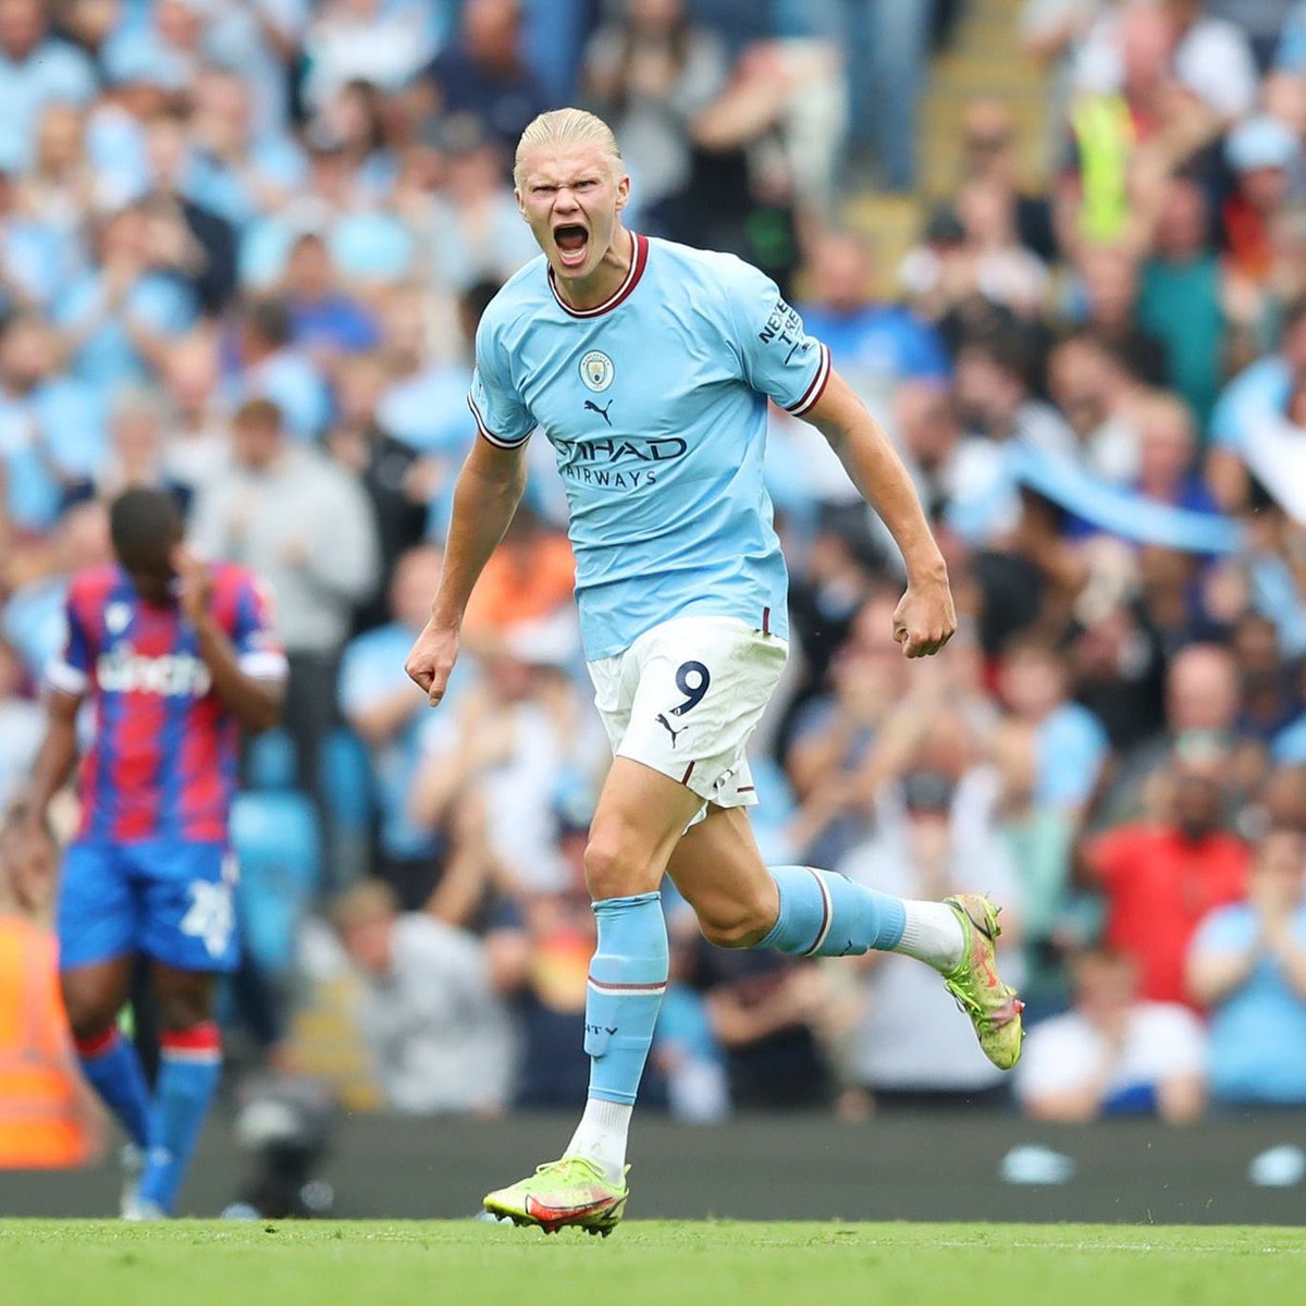
[[[1306,1234],[1119,1225],[0,1221],[13,1306],[1275,1306]]]

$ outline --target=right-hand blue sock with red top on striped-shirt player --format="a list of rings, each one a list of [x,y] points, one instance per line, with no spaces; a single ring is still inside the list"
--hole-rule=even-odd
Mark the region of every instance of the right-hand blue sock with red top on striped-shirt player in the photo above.
[[[141,1175],[141,1198],[168,1215],[200,1140],[209,1105],[222,1077],[222,1045],[213,1024],[159,1038],[159,1077],[150,1118],[150,1151]]]

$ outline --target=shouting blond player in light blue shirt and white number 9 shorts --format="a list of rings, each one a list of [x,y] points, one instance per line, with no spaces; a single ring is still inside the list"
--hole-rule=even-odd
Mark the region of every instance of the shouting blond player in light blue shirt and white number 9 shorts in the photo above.
[[[934,966],[990,1059],[1020,1055],[1020,1003],[996,973],[995,908],[908,902],[841,875],[763,865],[744,746],[788,652],[786,573],[763,488],[767,401],[814,423],[893,533],[906,657],[953,629],[947,569],[901,462],[776,286],[738,259],[626,230],[607,125],[573,108],[522,133],[517,204],[543,256],[490,304],[431,620],[406,663],[438,704],[473,585],[522,492],[538,426],[571,508],[576,593],[615,759],[585,853],[598,921],[585,1008],[589,1100],[560,1161],[486,1198],[546,1232],[607,1234],[626,1205],[626,1138],[667,977],[663,874],[729,948]]]

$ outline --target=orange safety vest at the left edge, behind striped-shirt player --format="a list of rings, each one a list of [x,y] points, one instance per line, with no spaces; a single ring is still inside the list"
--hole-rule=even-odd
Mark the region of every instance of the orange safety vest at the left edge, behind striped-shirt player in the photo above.
[[[0,1170],[90,1158],[74,1076],[57,944],[31,922],[0,916]]]

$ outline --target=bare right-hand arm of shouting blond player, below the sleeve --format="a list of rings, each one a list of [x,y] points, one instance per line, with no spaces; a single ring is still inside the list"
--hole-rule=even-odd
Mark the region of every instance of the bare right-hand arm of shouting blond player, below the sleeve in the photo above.
[[[893,637],[908,657],[938,653],[952,639],[957,615],[947,564],[902,460],[866,405],[833,368],[819,398],[802,418],[825,436],[853,485],[902,551],[906,593],[893,614]]]

